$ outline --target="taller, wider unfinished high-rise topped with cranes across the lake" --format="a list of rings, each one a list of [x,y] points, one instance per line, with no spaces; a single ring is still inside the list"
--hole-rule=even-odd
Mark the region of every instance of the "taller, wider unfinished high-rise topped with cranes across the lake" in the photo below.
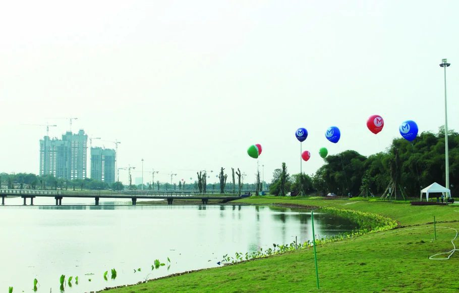
[[[40,176],[53,175],[68,180],[86,178],[86,144],[84,130],[68,131],[62,139],[40,139]]]

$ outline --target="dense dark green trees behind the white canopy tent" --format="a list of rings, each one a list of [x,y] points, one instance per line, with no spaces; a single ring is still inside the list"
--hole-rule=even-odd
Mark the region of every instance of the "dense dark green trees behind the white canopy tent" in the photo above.
[[[459,134],[448,131],[449,188],[459,192]],[[418,197],[420,190],[433,182],[445,185],[444,127],[438,133],[422,132],[414,141],[394,138],[384,152],[363,156],[348,150],[324,159],[315,174],[290,176],[285,163],[273,173],[269,191],[347,196],[382,196],[397,189],[398,194]],[[392,186],[392,188],[388,188]]]

